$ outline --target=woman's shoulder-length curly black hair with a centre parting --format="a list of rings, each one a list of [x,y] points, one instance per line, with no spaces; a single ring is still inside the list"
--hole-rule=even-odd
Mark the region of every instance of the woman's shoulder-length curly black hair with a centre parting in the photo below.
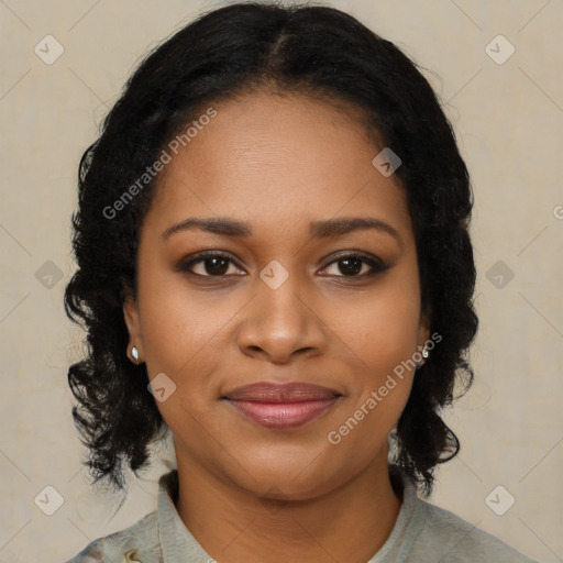
[[[73,214],[78,269],[65,290],[65,310],[87,331],[86,357],[68,371],[78,401],[73,417],[89,449],[85,465],[93,483],[122,489],[124,466],[136,475],[151,443],[167,430],[147,391],[145,365],[126,356],[123,317],[124,299],[136,291],[139,234],[156,178],[119,206],[119,217],[103,210],[202,108],[260,90],[361,110],[365,131],[401,159],[395,175],[412,220],[421,307],[442,340],[417,371],[396,426],[394,464],[429,494],[437,464],[460,449],[441,411],[457,382],[468,388],[473,380],[467,353],[478,321],[470,177],[416,63],[353,16],[323,5],[244,2],[200,15],[140,64],[84,153]]]

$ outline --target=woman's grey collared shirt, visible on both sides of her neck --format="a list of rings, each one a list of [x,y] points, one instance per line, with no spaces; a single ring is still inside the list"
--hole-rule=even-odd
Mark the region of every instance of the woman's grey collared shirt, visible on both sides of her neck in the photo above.
[[[220,563],[181,521],[174,498],[177,470],[161,477],[157,510],[99,538],[67,563]],[[390,536],[366,563],[537,563],[462,518],[417,496],[404,479],[402,504]],[[267,563],[267,562],[265,562]]]

